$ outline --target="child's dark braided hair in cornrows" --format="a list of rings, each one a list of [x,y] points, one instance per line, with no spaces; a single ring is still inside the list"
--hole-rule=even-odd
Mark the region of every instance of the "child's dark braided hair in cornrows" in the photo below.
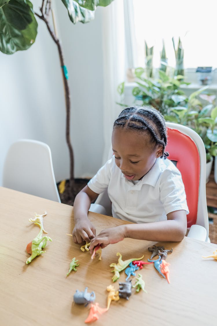
[[[139,132],[147,131],[152,143],[163,146],[162,156],[160,157],[166,158],[169,156],[169,153],[165,152],[167,145],[165,120],[156,109],[149,106],[126,108],[121,111],[115,120],[114,128],[131,129]]]

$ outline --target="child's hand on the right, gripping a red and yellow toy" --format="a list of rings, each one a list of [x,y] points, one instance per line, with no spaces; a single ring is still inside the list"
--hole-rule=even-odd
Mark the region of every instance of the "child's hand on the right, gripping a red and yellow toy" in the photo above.
[[[102,230],[91,240],[89,246],[90,253],[93,253],[94,247],[98,244],[101,244],[101,247],[105,248],[108,244],[116,244],[117,242],[124,240],[124,238],[126,238],[124,234],[124,225]]]

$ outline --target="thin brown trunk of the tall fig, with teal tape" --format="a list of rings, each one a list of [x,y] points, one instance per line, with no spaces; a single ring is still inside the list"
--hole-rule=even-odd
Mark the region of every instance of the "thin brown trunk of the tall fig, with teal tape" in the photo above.
[[[58,48],[60,64],[61,64],[61,68],[62,68],[62,79],[63,79],[63,85],[64,85],[64,93],[65,93],[66,142],[67,142],[67,145],[68,145],[69,155],[70,155],[70,190],[72,192],[73,188],[74,188],[75,180],[74,180],[74,154],[73,154],[73,148],[72,148],[72,144],[71,144],[71,140],[70,140],[70,91],[69,91],[69,83],[68,83],[68,80],[67,80],[66,75],[64,73],[64,68],[63,67],[65,67],[65,63],[64,63],[64,57],[63,57],[63,52],[62,52],[62,47],[61,47],[60,40],[57,37],[56,33],[54,34],[54,32],[52,31],[52,29],[50,27],[50,24],[48,22],[48,19],[47,19],[48,15],[49,15],[49,11],[51,9],[51,0],[47,0],[46,6],[45,6],[45,12],[44,12],[44,3],[45,3],[45,0],[42,0],[42,5],[40,7],[41,15],[39,15],[36,12],[35,12],[35,15],[46,23],[48,32],[49,32],[50,36],[52,37],[52,39],[54,40],[54,42],[56,43],[57,48]]]

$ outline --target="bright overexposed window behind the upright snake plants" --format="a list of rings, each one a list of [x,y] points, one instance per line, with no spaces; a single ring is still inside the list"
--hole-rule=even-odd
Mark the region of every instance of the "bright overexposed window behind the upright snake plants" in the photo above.
[[[180,37],[184,68],[217,67],[217,4],[214,0],[128,0],[125,30],[129,67],[144,67],[144,41],[154,46],[153,66],[160,66],[164,40],[168,65],[175,67],[175,48]],[[129,25],[129,26],[128,26]]]

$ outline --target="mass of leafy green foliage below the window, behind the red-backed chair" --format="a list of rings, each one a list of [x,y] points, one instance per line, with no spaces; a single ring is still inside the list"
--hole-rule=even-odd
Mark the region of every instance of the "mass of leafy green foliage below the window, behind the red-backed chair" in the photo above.
[[[204,86],[190,96],[186,96],[181,89],[181,85],[189,83],[183,81],[182,75],[171,78],[162,70],[159,70],[158,74],[158,79],[148,79],[144,77],[144,68],[135,69],[137,86],[132,90],[135,97],[134,103],[152,105],[161,111],[165,120],[188,126],[199,134],[206,148],[208,182],[213,156],[217,155],[215,122],[217,109],[213,105],[215,96],[202,94],[209,86]],[[119,85],[118,92],[123,95],[124,83]]]

